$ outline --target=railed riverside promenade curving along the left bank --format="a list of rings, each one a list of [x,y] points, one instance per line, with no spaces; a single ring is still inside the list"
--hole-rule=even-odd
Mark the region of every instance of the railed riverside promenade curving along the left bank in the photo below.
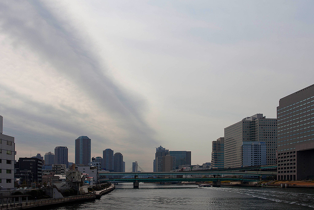
[[[44,199],[39,201],[29,201],[29,202],[22,202],[22,203],[8,203],[3,204],[0,206],[0,209],[41,209],[43,207],[48,206],[62,206],[67,205],[72,202],[84,202],[84,201],[93,201],[96,198],[100,198],[102,195],[111,192],[116,187],[111,185],[109,188],[100,191],[94,191],[88,193],[86,195],[78,195],[78,196],[69,196],[66,198],[57,198],[57,199]]]

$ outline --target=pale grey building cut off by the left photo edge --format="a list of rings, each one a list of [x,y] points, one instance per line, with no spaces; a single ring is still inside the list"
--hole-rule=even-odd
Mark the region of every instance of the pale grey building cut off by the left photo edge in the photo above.
[[[0,116],[0,186],[3,190],[14,189],[14,137],[3,134],[3,117]]]

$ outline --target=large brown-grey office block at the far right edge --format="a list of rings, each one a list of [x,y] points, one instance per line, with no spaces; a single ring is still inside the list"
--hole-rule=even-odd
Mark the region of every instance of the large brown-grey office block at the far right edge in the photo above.
[[[279,180],[314,176],[314,84],[279,100]]]

